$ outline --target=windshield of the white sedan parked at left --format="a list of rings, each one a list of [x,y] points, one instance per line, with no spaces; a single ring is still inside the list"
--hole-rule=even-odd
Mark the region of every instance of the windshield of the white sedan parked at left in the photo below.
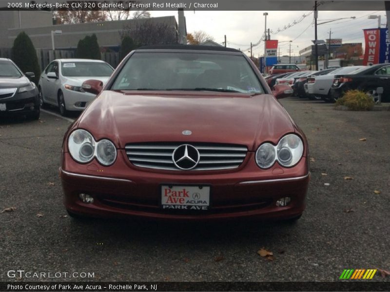
[[[101,62],[65,62],[61,65],[61,71],[67,77],[109,77],[114,69]]]

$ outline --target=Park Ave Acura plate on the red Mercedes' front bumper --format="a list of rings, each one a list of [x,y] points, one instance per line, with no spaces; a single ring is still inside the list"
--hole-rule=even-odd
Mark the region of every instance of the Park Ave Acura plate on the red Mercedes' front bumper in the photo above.
[[[161,208],[209,210],[210,186],[161,185]]]

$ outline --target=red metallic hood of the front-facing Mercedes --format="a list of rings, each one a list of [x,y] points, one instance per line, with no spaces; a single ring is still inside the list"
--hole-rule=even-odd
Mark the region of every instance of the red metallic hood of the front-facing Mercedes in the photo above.
[[[294,132],[290,116],[269,94],[185,91],[102,91],[83,112],[78,128],[96,140],[124,148],[134,142],[210,142],[245,145],[254,151]],[[184,136],[183,130],[192,135]]]

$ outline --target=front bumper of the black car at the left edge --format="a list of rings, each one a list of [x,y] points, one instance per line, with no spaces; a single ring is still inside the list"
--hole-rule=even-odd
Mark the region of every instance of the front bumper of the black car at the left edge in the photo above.
[[[12,97],[0,98],[0,104],[2,104],[0,108],[0,116],[26,114],[39,110],[38,91],[16,93]],[[5,110],[3,106],[4,104]]]

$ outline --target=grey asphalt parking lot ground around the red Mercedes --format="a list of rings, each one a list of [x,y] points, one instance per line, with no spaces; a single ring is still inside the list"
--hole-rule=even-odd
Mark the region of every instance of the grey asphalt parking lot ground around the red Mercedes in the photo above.
[[[312,158],[296,224],[75,221],[58,172],[70,122],[45,112],[34,122],[0,119],[0,211],[16,208],[0,213],[0,281],[39,280],[9,278],[9,270],[95,274],[61,281],[338,281],[344,269],[390,270],[390,111],[281,102]]]

